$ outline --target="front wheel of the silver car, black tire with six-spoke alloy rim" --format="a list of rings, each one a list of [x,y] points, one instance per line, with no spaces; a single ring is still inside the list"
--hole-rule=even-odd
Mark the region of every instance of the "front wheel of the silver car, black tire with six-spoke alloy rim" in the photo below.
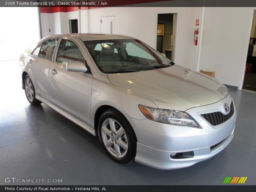
[[[104,150],[114,161],[128,164],[136,156],[137,139],[131,124],[116,109],[108,109],[99,120],[98,134]]]

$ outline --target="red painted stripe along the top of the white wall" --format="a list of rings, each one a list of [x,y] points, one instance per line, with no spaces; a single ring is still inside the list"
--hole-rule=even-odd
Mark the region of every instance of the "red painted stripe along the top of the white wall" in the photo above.
[[[80,5],[80,6],[70,6],[70,5],[55,5],[55,6],[47,6],[40,7],[41,13],[56,13],[56,12],[72,12],[77,11],[78,9],[87,10],[87,9],[98,9],[103,7],[114,7],[114,6],[122,6],[122,5],[132,5],[132,4],[143,4],[143,3],[153,3],[153,2],[161,2],[161,1],[173,1],[173,0],[108,0],[107,5]],[[75,2],[83,2],[83,1],[75,1]],[[84,1],[88,2],[88,1]]]

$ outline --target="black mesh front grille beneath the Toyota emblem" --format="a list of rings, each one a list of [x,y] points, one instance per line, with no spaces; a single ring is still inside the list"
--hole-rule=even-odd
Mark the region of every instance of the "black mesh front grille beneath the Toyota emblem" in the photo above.
[[[232,115],[234,114],[234,104],[233,101],[230,104],[230,111],[227,115],[222,114],[221,112],[213,112],[213,113],[206,113],[201,114],[202,117],[206,121],[208,121],[211,125],[219,125],[227,121]]]

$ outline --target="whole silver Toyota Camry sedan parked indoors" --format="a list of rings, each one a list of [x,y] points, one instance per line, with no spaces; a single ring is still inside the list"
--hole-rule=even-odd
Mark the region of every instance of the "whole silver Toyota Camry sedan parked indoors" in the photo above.
[[[129,36],[48,36],[22,53],[22,88],[98,135],[116,162],[188,167],[223,150],[236,109],[216,79],[168,60]]]

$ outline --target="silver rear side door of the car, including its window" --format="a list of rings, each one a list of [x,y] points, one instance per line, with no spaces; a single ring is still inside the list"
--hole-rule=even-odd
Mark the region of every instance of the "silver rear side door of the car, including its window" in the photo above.
[[[52,101],[50,74],[53,67],[53,53],[58,43],[58,38],[45,40],[30,55],[29,63],[33,65],[33,83],[36,93],[48,101]]]

